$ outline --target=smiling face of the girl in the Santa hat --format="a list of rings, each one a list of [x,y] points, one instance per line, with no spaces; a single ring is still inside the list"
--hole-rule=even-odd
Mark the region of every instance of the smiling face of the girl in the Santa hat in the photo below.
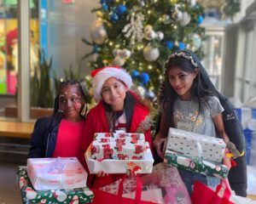
[[[114,77],[108,78],[102,86],[102,99],[112,106],[113,111],[124,109],[126,91],[128,88],[123,82]]]

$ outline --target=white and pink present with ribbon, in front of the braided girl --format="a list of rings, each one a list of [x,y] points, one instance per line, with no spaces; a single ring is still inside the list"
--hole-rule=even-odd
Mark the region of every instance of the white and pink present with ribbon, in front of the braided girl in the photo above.
[[[76,157],[28,159],[27,173],[36,190],[86,187],[87,173]]]

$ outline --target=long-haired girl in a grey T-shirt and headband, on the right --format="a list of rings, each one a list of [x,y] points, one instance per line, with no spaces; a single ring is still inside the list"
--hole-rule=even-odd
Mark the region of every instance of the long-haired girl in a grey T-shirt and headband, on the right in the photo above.
[[[163,157],[162,146],[169,127],[219,137],[229,143],[220,103],[225,101],[224,96],[214,88],[197,56],[189,51],[172,54],[166,62],[165,75],[160,93],[160,132],[154,139],[159,156]],[[201,174],[182,170],[180,174],[190,193],[195,180],[207,184],[207,177]]]

